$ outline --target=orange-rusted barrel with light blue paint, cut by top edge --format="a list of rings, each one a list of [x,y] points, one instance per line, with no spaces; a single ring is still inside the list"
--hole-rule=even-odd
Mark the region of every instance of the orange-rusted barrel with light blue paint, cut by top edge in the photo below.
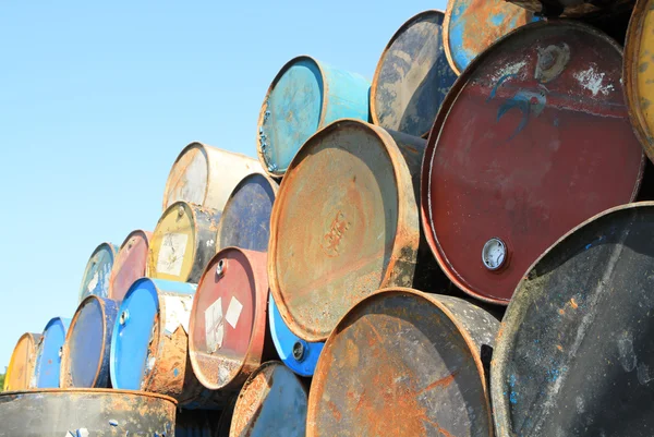
[[[450,0],[443,27],[445,53],[457,74],[495,41],[538,19],[507,0]]]

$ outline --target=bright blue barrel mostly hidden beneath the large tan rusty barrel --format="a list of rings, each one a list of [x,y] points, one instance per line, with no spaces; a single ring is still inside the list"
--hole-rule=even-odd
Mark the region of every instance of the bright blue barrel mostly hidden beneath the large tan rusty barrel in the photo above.
[[[310,343],[295,336],[283,323],[272,294],[268,300],[270,336],[279,357],[300,376],[313,376],[324,342]]]

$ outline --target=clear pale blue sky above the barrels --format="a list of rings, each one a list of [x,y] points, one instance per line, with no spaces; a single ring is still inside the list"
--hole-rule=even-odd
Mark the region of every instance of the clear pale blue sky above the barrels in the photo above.
[[[72,317],[102,241],[152,230],[192,141],[255,157],[279,69],[311,54],[372,80],[391,35],[445,0],[14,1],[0,13],[0,372]]]

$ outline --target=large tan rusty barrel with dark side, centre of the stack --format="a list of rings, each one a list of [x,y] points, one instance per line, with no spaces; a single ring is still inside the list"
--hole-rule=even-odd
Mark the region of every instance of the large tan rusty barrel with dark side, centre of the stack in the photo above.
[[[380,287],[411,286],[425,142],[358,120],[311,137],[272,207],[268,278],[283,320],[305,341]]]

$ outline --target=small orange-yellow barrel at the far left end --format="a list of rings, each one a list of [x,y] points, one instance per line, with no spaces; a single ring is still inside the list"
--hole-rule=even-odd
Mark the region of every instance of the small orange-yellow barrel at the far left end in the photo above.
[[[25,332],[19,339],[9,361],[2,391],[16,391],[33,388],[37,344],[40,333]]]

